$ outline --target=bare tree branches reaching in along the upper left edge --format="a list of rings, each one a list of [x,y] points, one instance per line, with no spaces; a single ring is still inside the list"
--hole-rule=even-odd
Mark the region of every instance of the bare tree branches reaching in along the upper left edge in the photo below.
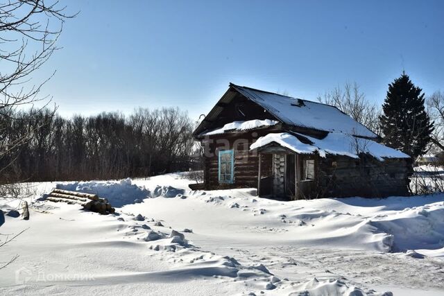
[[[58,49],[56,41],[62,32],[67,15],[65,7],[58,1],[15,0],[0,3],[0,159],[14,154],[31,140],[33,131],[42,128],[35,125],[22,137],[11,139],[4,134],[8,119],[18,121],[12,116],[23,105],[34,105],[43,101],[49,103],[48,96],[40,96],[42,85],[49,80],[33,84],[33,73]],[[38,112],[39,109],[31,109]],[[52,113],[53,114],[53,113]],[[51,114],[50,114],[51,115]],[[52,115],[51,115],[52,116]],[[11,162],[15,157],[9,157]],[[0,171],[10,163],[0,167]],[[2,186],[7,189],[8,186]],[[0,192],[1,195],[1,192]]]

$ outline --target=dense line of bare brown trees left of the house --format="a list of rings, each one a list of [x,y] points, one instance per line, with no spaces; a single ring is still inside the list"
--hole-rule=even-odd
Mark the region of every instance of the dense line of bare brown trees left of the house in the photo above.
[[[3,182],[146,177],[190,167],[194,123],[177,108],[71,119],[49,109],[10,110],[0,126],[9,150],[0,158]]]

